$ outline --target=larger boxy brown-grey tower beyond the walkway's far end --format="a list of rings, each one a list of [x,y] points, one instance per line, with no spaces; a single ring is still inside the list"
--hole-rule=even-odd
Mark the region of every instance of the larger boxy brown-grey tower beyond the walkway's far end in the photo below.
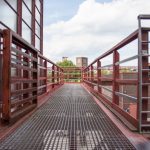
[[[87,67],[88,58],[87,57],[76,57],[76,66],[77,67]]]

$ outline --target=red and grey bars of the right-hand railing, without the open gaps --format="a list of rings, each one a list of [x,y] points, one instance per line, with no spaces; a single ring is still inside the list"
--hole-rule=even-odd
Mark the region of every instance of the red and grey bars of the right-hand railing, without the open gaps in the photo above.
[[[111,48],[109,51],[95,59],[88,67],[83,69],[83,83],[91,92],[96,93],[103,102],[105,102],[108,106],[111,106],[112,109],[117,111],[123,117],[126,118],[132,125],[134,125],[139,132],[149,132],[150,131],[150,121],[149,113],[150,113],[150,97],[149,97],[149,89],[150,89],[150,79],[149,79],[149,66],[148,66],[148,57],[149,54],[149,39],[148,35],[150,33],[150,28],[141,27],[142,19],[150,19],[150,15],[139,15],[139,29],[130,34],[123,41],[118,43],[116,46]],[[138,55],[131,56],[127,59],[121,60],[119,59],[119,49],[123,48],[127,44],[133,42],[138,39]],[[107,56],[113,55],[113,64],[101,66],[101,60],[106,58]],[[128,62],[131,60],[138,59],[138,78],[137,79],[120,79],[119,77],[119,65]],[[92,66],[96,65],[97,76],[90,77],[90,69]],[[105,67],[113,68],[113,76],[112,78],[102,77],[101,70]],[[90,78],[90,80],[89,80]],[[112,85],[112,89],[105,87],[105,83],[109,83]],[[136,85],[137,93],[136,97],[127,95],[125,93],[119,92],[120,85]],[[94,87],[97,87],[95,89]],[[102,94],[102,89],[105,89],[112,93],[112,99],[108,99],[105,95]],[[133,100],[137,102],[136,114],[137,117],[132,117],[129,113],[124,111],[121,107],[119,107],[119,98],[125,97],[127,99]]]

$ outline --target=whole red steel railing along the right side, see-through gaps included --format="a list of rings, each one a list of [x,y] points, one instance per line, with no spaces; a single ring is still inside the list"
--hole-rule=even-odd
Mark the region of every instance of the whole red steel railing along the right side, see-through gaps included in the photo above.
[[[150,16],[139,16],[139,22],[142,19],[150,19]],[[139,26],[138,30],[83,69],[84,84],[140,132],[150,129],[149,34],[150,28]],[[128,50],[132,44],[135,54]],[[124,58],[126,54],[128,56]],[[123,64],[127,64],[126,71]]]

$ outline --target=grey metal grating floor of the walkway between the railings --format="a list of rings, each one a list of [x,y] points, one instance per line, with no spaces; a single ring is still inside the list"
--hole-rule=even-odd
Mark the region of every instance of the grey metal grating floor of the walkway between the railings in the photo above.
[[[66,84],[23,125],[0,142],[0,150],[135,149],[79,84]]]

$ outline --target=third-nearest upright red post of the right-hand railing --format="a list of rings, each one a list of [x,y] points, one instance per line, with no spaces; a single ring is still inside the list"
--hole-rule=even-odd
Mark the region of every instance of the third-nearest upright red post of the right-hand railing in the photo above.
[[[101,62],[100,60],[97,60],[97,88],[98,88],[98,92],[102,93],[102,89],[99,86],[101,84]]]

